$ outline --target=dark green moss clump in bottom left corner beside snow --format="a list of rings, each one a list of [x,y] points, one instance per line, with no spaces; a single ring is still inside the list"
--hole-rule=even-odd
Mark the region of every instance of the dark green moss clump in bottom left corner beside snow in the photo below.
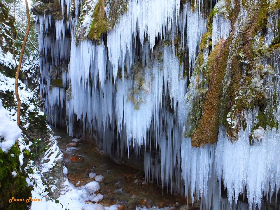
[[[11,156],[14,155],[14,157]],[[31,202],[11,202],[8,200],[12,197],[26,200],[31,197],[31,187],[27,186],[26,174],[20,170],[18,155],[20,150],[17,143],[11,147],[8,153],[0,149],[0,208],[1,209],[29,209]],[[17,176],[13,177],[15,171]]]

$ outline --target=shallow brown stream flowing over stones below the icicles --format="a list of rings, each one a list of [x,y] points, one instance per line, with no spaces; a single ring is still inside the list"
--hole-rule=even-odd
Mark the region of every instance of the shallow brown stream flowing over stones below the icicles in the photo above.
[[[79,143],[76,147],[67,144],[73,142],[64,129],[53,128],[54,136],[61,136],[57,139],[58,145],[64,154],[64,163],[68,169],[68,179],[74,186],[85,185],[93,181],[89,173],[104,176],[100,183],[100,193],[103,200],[99,202],[104,206],[122,204],[124,209],[136,209],[136,206],[157,208],[186,205],[184,197],[173,194],[170,196],[166,191],[162,192],[155,183],[146,183],[141,171],[131,167],[114,163],[106,155],[88,143]],[[76,157],[77,158],[76,158]],[[70,160],[76,158],[77,162]],[[77,184],[78,183],[78,184]],[[190,209],[197,209],[193,206]]]

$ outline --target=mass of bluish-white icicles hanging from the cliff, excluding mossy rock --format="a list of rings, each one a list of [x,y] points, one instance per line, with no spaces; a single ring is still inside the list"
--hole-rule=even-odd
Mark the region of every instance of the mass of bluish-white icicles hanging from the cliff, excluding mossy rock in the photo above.
[[[201,209],[248,208],[238,201],[239,193],[248,197],[250,209],[260,207],[263,194],[279,189],[280,136],[275,129],[267,130],[250,146],[255,110],[244,113],[247,127],[237,142],[229,142],[223,127],[218,142],[204,148],[193,148],[190,138],[184,138],[186,116],[192,110],[187,100],[192,97],[186,95],[195,94],[196,79],[183,77],[174,40],[179,36],[181,50],[188,51],[191,72],[206,32],[206,19],[198,9],[203,3],[196,0],[192,12],[188,1],[180,9],[179,0],[131,0],[106,42],[101,38],[98,43],[76,43],[79,0],[76,18],[70,15],[70,0],[61,1],[62,10],[67,10],[64,20],[37,16],[45,112],[53,125],[67,125],[70,135],[77,122],[94,131],[97,143],[112,158],[113,146],[122,156],[144,153],[147,179],[162,181],[170,192],[190,193],[192,202],[194,195],[200,197]],[[229,20],[215,17],[213,43],[227,38],[229,28]],[[62,74],[62,88],[51,84],[57,74]],[[188,79],[192,89],[187,88]],[[222,180],[227,199],[221,197]]]

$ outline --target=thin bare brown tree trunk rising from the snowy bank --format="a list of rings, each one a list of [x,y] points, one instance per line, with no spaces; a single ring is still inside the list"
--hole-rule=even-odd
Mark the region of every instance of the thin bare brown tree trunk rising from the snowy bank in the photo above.
[[[17,98],[17,125],[18,126],[20,126],[20,96],[18,95],[18,76],[20,74],[20,66],[21,66],[21,63],[22,63],[24,47],[25,47],[25,44],[27,42],[29,29],[30,29],[30,15],[29,15],[29,8],[28,8],[27,0],[25,0],[25,7],[26,7],[26,16],[27,16],[27,28],[26,28],[25,36],[24,36],[23,43],[22,43],[22,46],[21,46],[20,60],[18,62],[17,72],[16,72],[16,75],[15,75],[15,96]]]

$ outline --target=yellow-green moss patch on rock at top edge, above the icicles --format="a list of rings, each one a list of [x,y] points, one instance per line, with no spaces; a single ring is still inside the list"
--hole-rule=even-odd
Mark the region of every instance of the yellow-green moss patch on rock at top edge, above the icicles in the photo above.
[[[107,18],[103,1],[99,0],[94,8],[92,23],[88,32],[88,37],[91,39],[99,40],[101,34],[107,31]]]

